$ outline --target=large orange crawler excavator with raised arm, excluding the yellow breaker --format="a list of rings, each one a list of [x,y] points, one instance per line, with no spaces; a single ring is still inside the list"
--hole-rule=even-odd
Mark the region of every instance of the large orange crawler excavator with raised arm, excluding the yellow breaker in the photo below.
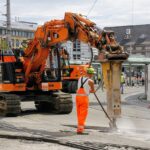
[[[34,101],[38,111],[68,114],[72,97],[63,93],[60,43],[76,39],[99,49],[103,59],[126,58],[119,45],[112,44],[112,31],[102,31],[82,15],[65,13],[62,20],[52,20],[37,28],[21,56],[0,53],[0,114],[17,116],[21,101]],[[46,63],[49,61],[49,63]],[[46,65],[48,64],[48,65]]]

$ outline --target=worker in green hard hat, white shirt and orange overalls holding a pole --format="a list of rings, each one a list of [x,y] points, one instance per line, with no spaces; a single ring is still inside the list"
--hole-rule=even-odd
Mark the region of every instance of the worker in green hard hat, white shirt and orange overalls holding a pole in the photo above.
[[[76,93],[76,109],[78,119],[77,134],[86,134],[84,133],[84,126],[88,114],[88,96],[90,93],[95,92],[94,81],[92,80],[94,74],[94,68],[87,68],[86,76],[80,77],[78,80],[78,90]]]

